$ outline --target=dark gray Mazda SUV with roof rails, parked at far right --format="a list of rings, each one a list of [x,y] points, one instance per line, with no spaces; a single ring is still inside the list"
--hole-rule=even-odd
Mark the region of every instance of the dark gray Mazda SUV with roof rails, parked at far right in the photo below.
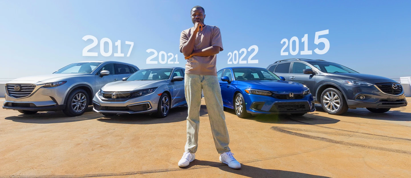
[[[284,59],[267,69],[285,80],[299,82],[312,92],[329,114],[340,115],[365,107],[376,113],[407,105],[401,84],[395,80],[358,73],[345,66],[313,59]]]

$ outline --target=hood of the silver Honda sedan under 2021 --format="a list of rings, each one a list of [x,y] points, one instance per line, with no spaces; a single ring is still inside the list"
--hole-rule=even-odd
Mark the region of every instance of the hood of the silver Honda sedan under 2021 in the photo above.
[[[159,87],[164,83],[166,83],[166,80],[117,81],[104,85],[104,87],[102,87],[102,91],[133,91]]]

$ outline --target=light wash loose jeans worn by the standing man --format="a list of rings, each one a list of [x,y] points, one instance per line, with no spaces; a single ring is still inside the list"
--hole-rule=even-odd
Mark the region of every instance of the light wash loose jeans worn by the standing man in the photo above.
[[[201,89],[210,119],[212,137],[219,154],[229,152],[230,137],[223,111],[221,89],[215,75],[185,74],[185,99],[188,105],[185,151],[196,153],[199,140]]]

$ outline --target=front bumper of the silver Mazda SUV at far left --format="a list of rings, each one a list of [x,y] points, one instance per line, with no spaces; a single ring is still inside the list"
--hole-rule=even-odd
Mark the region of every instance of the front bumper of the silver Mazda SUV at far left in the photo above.
[[[64,96],[69,90],[67,86],[47,88],[42,84],[36,85],[32,93],[23,98],[14,98],[5,95],[3,109],[7,110],[29,110],[29,111],[55,111],[65,108]]]

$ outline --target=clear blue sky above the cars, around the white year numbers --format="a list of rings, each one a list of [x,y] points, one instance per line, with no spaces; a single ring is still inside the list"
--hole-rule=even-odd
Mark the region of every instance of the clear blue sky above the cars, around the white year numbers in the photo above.
[[[180,32],[192,27],[189,11],[195,5],[205,8],[205,24],[221,29],[224,51],[217,55],[217,70],[227,66],[259,66],[287,58],[324,59],[360,73],[388,78],[411,76],[410,1],[0,1],[0,78],[53,73],[85,60],[115,60],[139,68],[185,65],[179,52]],[[314,52],[324,44],[314,44],[314,34],[329,30],[330,49]],[[308,34],[312,55],[291,55],[289,46],[280,55],[282,39]],[[121,51],[129,57],[104,57],[100,43],[82,56],[84,41],[92,35],[100,41],[109,38],[113,53],[121,40]],[[256,45],[252,59],[258,64],[227,64],[229,52]],[[295,43],[294,43],[295,46]],[[108,45],[104,46],[108,51]],[[147,49],[178,55],[179,64],[145,64],[153,53]],[[295,47],[293,48],[295,50]],[[245,60],[252,51],[247,51]],[[240,55],[241,56],[241,55]],[[158,61],[158,56],[153,60]],[[174,60],[174,59],[173,59]]]

